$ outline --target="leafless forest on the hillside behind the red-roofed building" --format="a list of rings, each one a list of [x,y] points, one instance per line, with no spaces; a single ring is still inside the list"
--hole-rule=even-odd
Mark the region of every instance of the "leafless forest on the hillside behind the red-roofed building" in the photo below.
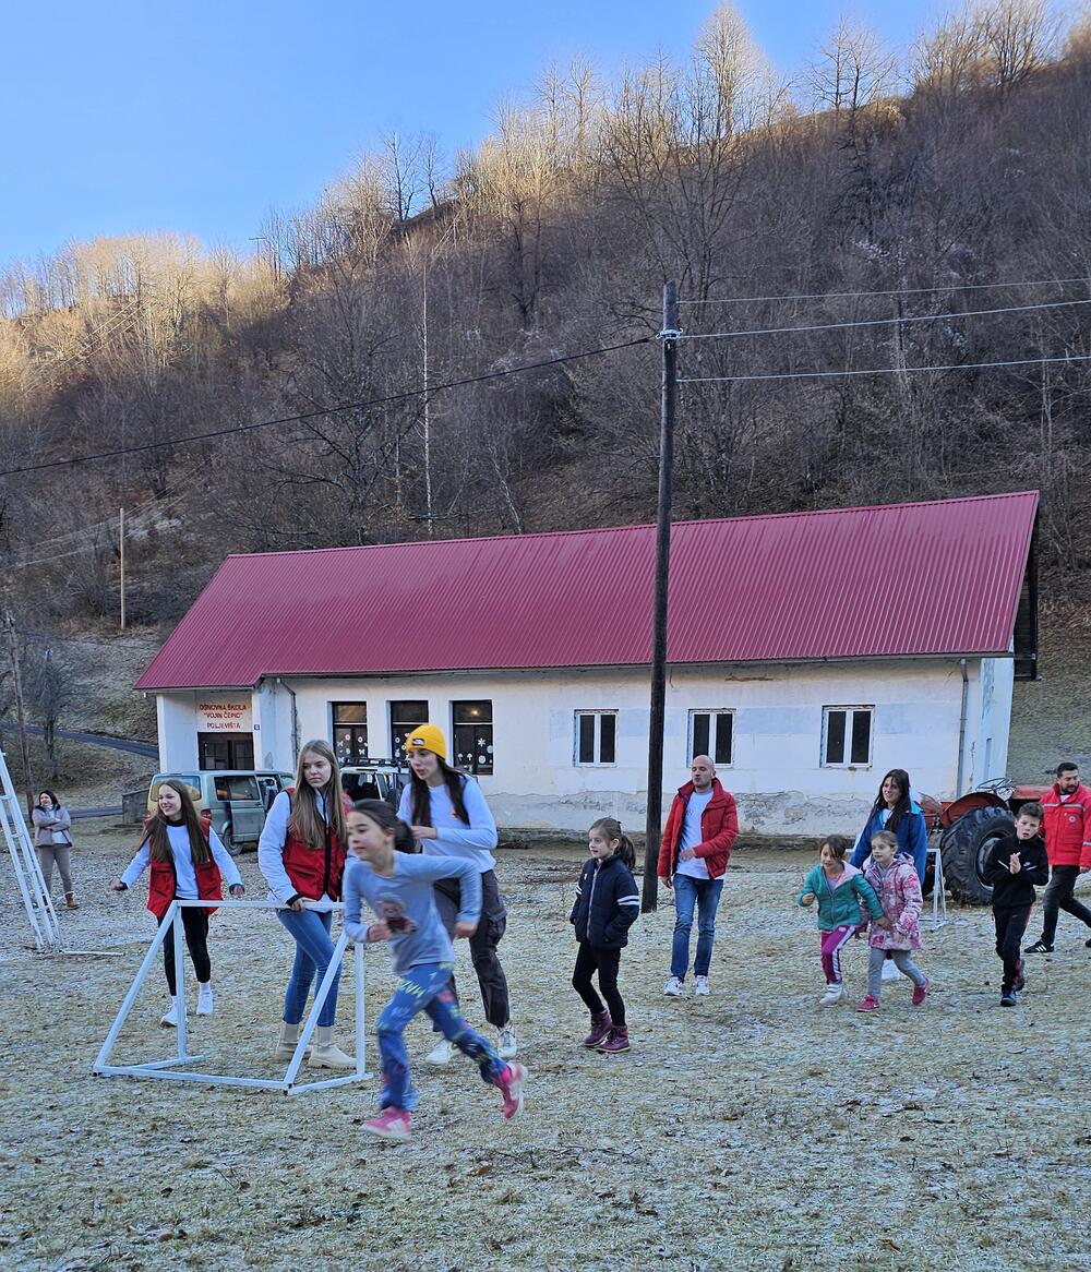
[[[712,382],[682,392],[676,516],[1039,486],[1046,565],[1083,567],[1088,136],[1091,11],[996,0],[898,56],[846,22],[783,76],[724,6],[684,65],[547,70],[473,153],[389,135],[253,256],[11,263],[13,599],[113,618],[121,506],[137,623],[228,552],[651,519],[654,338],[445,385],[654,337],[666,279],[688,337],[734,333],[680,346]],[[807,329],[741,335],[769,328]]]

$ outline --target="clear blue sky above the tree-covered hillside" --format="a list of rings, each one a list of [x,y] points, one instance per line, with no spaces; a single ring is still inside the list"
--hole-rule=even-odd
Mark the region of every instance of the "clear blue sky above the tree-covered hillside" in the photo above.
[[[0,266],[66,239],[172,229],[249,251],[384,130],[453,154],[551,61],[682,57],[712,0],[52,0],[4,18]],[[895,46],[932,0],[741,0],[782,69],[848,11]]]

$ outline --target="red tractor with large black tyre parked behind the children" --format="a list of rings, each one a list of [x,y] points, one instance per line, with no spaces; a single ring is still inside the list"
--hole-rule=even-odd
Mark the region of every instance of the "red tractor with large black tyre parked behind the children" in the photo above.
[[[946,804],[931,795],[917,796],[930,836],[940,837],[943,883],[956,901],[970,906],[992,901],[992,887],[982,879],[989,848],[1011,833],[1024,804],[1048,794],[1048,786],[1016,786],[1007,777],[994,777]]]

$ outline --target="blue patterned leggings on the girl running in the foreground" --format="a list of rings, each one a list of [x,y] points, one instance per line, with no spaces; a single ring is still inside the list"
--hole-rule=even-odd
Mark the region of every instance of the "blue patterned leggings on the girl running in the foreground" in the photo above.
[[[477,1062],[483,1081],[490,1086],[500,1086],[501,1079],[507,1076],[507,1065],[459,1015],[450,987],[453,972],[453,963],[420,963],[411,967],[398,981],[394,997],[383,1009],[375,1025],[383,1061],[380,1108],[407,1109],[416,1103],[409,1084],[409,1054],[402,1034],[418,1011],[423,1011],[439,1025],[448,1042]]]

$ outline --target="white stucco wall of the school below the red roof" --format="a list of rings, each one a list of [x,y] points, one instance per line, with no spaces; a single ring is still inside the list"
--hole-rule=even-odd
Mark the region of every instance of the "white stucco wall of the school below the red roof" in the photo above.
[[[1011,715],[1008,659],[969,659],[963,785],[1005,771]],[[296,720],[291,697],[295,692]],[[202,691],[207,695],[207,691]],[[331,738],[331,703],[367,703],[369,749],[390,753],[393,700],[429,702],[450,739],[450,703],[488,698],[495,767],[481,786],[509,827],[584,831],[599,815],[642,829],[647,776],[647,673],[566,670],[426,674],[370,679],[268,681],[253,692],[254,756],[291,770],[295,747]],[[734,763],[720,776],[739,799],[745,828],[821,834],[860,827],[888,768],[908,768],[916,790],[956,794],[963,678],[957,660],[891,660],[745,668],[673,668],[666,689],[665,794],[688,776],[692,710],[735,712]],[[163,767],[196,763],[193,693],[159,695]],[[871,706],[868,766],[824,768],[824,706]],[[617,762],[576,766],[575,712],[615,711]],[[988,754],[987,754],[988,753]]]

